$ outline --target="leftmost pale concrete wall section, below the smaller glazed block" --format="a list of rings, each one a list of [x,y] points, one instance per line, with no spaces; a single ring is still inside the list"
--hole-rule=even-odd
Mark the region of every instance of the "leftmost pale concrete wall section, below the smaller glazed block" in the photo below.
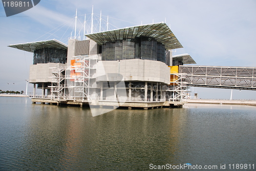
[[[52,69],[54,67],[65,67],[65,64],[62,63],[37,63],[36,65],[30,66],[29,72],[29,82],[51,82],[52,78]]]

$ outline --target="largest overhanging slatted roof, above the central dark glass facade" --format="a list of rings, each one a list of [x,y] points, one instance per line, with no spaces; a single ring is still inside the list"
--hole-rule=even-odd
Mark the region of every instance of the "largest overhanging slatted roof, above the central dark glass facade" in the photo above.
[[[158,42],[161,42],[167,50],[183,48],[174,33],[165,23],[134,26],[123,29],[86,34],[86,36],[97,42],[99,45],[109,41],[146,36],[153,37]]]

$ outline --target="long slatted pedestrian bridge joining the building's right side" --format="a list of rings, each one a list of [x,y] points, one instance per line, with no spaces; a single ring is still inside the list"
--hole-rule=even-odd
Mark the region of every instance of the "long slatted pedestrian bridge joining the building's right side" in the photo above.
[[[179,66],[187,86],[256,90],[255,67]]]

